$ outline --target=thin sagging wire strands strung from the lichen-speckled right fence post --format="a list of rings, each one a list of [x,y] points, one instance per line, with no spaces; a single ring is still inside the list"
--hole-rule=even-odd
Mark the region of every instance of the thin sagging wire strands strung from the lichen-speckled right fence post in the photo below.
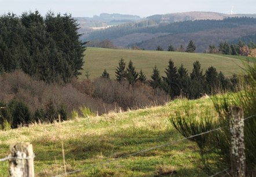
[[[244,118],[244,120],[248,120],[248,119],[251,119],[253,117],[255,117],[256,115],[253,115],[253,116],[249,116],[249,117],[246,117]],[[115,159],[111,159],[111,160],[107,160],[107,161],[104,161],[102,163],[98,163],[98,164],[93,164],[93,165],[90,165],[90,167],[86,167],[86,168],[81,168],[81,169],[77,169],[75,171],[71,171],[71,172],[67,172],[67,174],[75,174],[75,173],[78,173],[78,172],[82,172],[82,171],[85,171],[86,169],[89,169],[89,168],[92,168],[92,167],[96,167],[97,165],[103,165],[103,164],[107,164],[107,163],[110,163],[112,161],[116,161],[116,160],[119,160],[120,158],[126,158],[126,157],[130,157],[130,156],[136,156],[137,154],[141,154],[141,153],[145,153],[145,152],[149,152],[150,150],[154,150],[154,149],[158,149],[158,148],[163,148],[165,146],[169,146],[173,143],[177,143],[177,142],[180,142],[180,141],[184,141],[186,139],[191,139],[191,138],[195,138],[195,137],[199,137],[200,135],[204,135],[204,134],[209,134],[210,132],[214,132],[214,131],[218,131],[218,130],[221,130],[222,128],[226,128],[228,126],[224,126],[224,127],[219,127],[219,128],[216,128],[214,130],[209,130],[209,131],[206,131],[206,132],[202,132],[200,134],[196,134],[196,135],[192,135],[190,137],[185,137],[185,138],[182,138],[182,139],[178,139],[176,141],[171,141],[171,142],[168,142],[168,143],[164,143],[163,145],[159,145],[159,146],[155,146],[155,147],[152,147],[152,148],[148,148],[148,149],[144,149],[144,150],[140,150],[136,153],[131,153],[131,154],[127,154],[125,156],[121,156],[121,157],[118,157],[118,158],[115,158]],[[218,174],[221,174],[221,172],[225,172],[227,171],[228,168],[224,169],[223,171],[220,171],[218,172],[217,174],[214,174],[213,176],[216,176]],[[60,174],[60,175],[57,175],[57,176],[53,176],[53,177],[60,177],[60,176],[64,176],[65,173],[63,174]],[[211,177],[211,176],[210,176]]]

